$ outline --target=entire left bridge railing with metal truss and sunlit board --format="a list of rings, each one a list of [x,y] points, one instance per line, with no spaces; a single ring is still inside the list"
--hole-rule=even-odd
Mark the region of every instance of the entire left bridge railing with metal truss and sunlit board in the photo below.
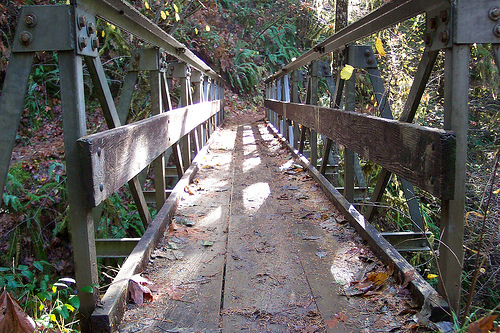
[[[149,43],[133,51],[117,105],[98,53],[97,18]],[[58,38],[54,38],[57,35]],[[223,80],[183,44],[122,0],[75,0],[69,5],[26,6],[18,18],[0,96],[0,189],[5,186],[16,129],[35,52],[58,54],[72,247],[83,332],[115,330],[123,313],[128,278],[139,272],[172,218],[196,169],[191,164],[223,120]],[[176,59],[176,60],[173,60]],[[109,130],[88,135],[84,64]],[[124,125],[140,71],[149,74],[152,116]],[[170,91],[180,91],[173,109]],[[166,163],[173,156],[180,179],[166,190]],[[152,165],[155,191],[142,190],[139,173]],[[188,166],[191,166],[188,168]],[[128,183],[146,232],[141,239],[96,239],[99,204]],[[0,196],[1,200],[1,196]],[[147,203],[155,202],[152,220]],[[128,257],[98,302],[97,257]],[[91,321],[93,324],[91,325]]]

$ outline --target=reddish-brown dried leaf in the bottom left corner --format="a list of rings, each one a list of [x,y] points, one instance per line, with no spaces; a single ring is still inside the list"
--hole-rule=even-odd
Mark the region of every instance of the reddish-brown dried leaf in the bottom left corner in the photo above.
[[[35,322],[7,291],[0,295],[0,332],[32,333]]]

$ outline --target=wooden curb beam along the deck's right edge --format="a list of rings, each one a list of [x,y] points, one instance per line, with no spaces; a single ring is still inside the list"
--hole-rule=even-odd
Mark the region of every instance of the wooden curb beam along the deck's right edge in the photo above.
[[[273,131],[275,135],[278,137],[280,136],[273,126],[269,126],[268,128]],[[401,276],[415,271],[414,267],[408,263],[387,240],[385,240],[380,232],[365,220],[363,215],[361,215],[356,208],[354,208],[354,206],[350,204],[318,170],[316,170],[316,168],[313,168],[307,158],[300,155],[298,150],[294,149],[287,142],[284,142],[284,144],[286,144],[288,149],[296,157],[300,158],[300,163],[307,168],[309,174],[318,182],[326,196],[335,204],[337,209],[344,214],[348,222],[358,231],[360,236],[368,242],[372,250],[374,250],[384,262],[387,264],[394,263],[396,272],[401,274]],[[409,282],[408,287],[419,304],[423,304],[424,301],[428,302],[433,313],[439,315],[443,313],[443,310],[449,310],[448,303],[420,274],[413,273],[413,280]]]

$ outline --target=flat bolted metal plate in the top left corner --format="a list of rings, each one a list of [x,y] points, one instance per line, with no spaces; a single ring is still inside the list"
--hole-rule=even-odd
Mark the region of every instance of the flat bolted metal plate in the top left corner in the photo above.
[[[13,52],[75,49],[72,6],[23,6],[12,44]]]

